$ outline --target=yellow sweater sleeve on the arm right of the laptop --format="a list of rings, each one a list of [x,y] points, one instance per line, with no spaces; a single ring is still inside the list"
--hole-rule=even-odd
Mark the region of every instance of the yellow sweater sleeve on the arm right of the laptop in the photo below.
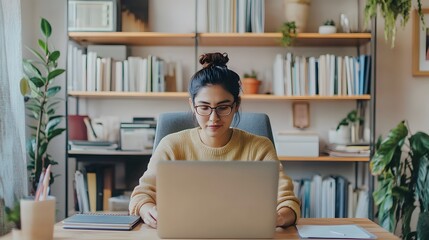
[[[269,161],[269,160],[279,161],[274,145],[270,140],[267,139],[263,144],[260,144],[260,146],[258,146],[258,148],[256,149],[258,149],[258,152],[264,153],[264,156],[260,156],[262,157],[261,159],[263,161]],[[283,207],[289,207],[295,212],[295,215],[296,215],[295,224],[296,224],[298,219],[301,217],[300,201],[293,192],[292,179],[284,173],[283,165],[279,161],[279,190],[278,190],[278,197],[277,197],[277,211]]]

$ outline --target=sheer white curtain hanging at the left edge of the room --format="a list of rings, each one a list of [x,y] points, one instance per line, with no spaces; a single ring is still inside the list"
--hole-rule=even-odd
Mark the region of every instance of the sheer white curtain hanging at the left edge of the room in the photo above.
[[[0,199],[12,206],[27,194],[20,0],[0,0]],[[0,215],[0,230],[4,230]],[[0,232],[1,235],[1,232]]]

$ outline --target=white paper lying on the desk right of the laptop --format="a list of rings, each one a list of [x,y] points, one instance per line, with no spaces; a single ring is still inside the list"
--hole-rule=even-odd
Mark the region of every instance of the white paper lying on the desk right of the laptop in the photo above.
[[[301,238],[376,239],[365,229],[355,225],[297,225]]]

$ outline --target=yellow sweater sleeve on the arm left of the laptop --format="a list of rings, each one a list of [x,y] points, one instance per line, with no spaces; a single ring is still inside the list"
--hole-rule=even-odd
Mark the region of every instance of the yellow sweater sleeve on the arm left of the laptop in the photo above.
[[[144,204],[156,205],[156,168],[160,159],[174,159],[173,149],[170,146],[165,138],[162,139],[150,158],[147,170],[139,179],[139,185],[131,193],[129,204],[131,215],[139,215],[140,208]]]

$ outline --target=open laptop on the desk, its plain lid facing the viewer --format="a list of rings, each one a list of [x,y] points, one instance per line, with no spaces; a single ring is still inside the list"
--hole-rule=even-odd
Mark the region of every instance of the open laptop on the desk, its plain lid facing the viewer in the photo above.
[[[276,161],[161,161],[160,238],[273,238]]]

